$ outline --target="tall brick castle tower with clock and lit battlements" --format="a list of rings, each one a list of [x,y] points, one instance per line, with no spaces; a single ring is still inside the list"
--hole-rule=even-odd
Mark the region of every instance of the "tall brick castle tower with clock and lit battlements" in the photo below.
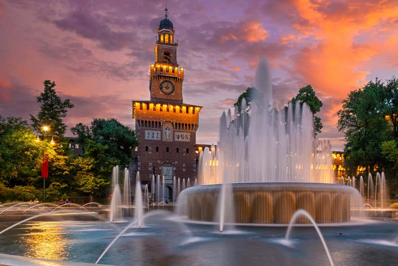
[[[173,201],[173,177],[191,181],[196,177],[196,130],[202,107],[183,103],[184,68],[177,63],[178,43],[165,11],[155,44],[156,61],[149,70],[151,101],[133,101],[133,118],[141,182],[151,186],[152,175],[164,176],[164,197]]]

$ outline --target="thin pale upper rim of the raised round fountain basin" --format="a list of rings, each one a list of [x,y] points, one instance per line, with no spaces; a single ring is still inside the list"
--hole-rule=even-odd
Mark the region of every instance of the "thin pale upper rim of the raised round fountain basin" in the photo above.
[[[358,190],[347,185],[330,183],[307,183],[307,182],[257,182],[257,183],[231,183],[234,191],[319,191],[339,192],[356,194]],[[217,191],[222,184],[198,185],[183,190],[184,194],[200,191]]]

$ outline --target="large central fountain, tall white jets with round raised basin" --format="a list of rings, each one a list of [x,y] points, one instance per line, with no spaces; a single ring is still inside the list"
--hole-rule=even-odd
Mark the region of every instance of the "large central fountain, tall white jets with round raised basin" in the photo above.
[[[333,184],[331,145],[314,138],[310,108],[291,102],[282,110],[272,107],[268,78],[266,62],[260,61],[253,101],[242,99],[233,117],[231,111],[222,113],[217,150],[200,154],[201,185],[185,189],[183,180],[185,215],[222,221],[222,205],[231,203],[236,223],[286,224],[297,209],[307,210],[317,223],[350,221],[351,197],[358,195],[354,183],[349,178],[350,186]],[[225,200],[226,184],[231,200]]]

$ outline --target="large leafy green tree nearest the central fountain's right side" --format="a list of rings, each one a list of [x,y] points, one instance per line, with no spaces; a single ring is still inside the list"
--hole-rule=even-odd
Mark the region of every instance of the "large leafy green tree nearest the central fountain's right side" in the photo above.
[[[384,84],[371,81],[350,92],[338,111],[337,128],[344,133],[344,157],[349,174],[356,175],[358,166],[382,169],[386,159],[381,144],[392,138],[391,126],[385,118]]]

